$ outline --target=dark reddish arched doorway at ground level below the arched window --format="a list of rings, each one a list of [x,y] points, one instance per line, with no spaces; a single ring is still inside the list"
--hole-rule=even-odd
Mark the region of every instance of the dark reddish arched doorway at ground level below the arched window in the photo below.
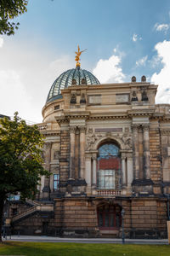
[[[105,204],[97,208],[99,230],[119,230],[122,225],[122,207]]]

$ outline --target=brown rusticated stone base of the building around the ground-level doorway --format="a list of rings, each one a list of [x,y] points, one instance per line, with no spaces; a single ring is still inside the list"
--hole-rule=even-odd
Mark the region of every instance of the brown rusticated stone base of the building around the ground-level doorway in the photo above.
[[[122,237],[122,227],[116,234],[99,230],[97,207],[116,204],[125,210],[124,231],[127,238],[167,237],[167,199],[155,197],[101,198],[71,197],[54,199],[54,215],[36,213],[20,219],[13,232],[23,235],[65,237]]]

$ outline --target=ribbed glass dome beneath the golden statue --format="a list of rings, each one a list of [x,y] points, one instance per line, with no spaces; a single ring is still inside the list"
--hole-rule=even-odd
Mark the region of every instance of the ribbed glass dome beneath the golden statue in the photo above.
[[[48,93],[47,102],[61,98],[61,90],[71,85],[99,84],[99,80],[89,71],[76,67],[62,73],[54,81]],[[47,103],[46,102],[46,103]]]

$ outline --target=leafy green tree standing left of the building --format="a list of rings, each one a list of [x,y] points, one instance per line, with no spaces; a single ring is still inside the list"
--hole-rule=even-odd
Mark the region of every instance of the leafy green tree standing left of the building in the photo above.
[[[37,126],[14,113],[14,120],[0,119],[0,234],[3,206],[9,194],[20,193],[21,199],[33,199],[42,175],[43,137]],[[0,235],[0,241],[2,241]]]

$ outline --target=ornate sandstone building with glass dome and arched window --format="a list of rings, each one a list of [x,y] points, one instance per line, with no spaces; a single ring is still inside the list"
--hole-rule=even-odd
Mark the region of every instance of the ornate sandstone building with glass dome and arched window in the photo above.
[[[37,201],[11,202],[13,230],[120,237],[123,209],[127,237],[167,236],[170,105],[156,105],[156,89],[144,76],[99,84],[80,65],[62,73],[38,125],[51,176]]]

